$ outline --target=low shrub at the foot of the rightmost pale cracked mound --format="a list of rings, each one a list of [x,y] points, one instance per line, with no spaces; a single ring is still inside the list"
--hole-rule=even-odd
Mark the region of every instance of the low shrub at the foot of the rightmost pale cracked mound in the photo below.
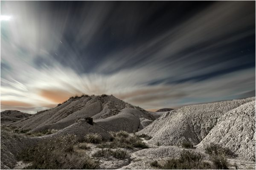
[[[231,157],[237,156],[230,149],[221,147],[221,145],[219,144],[212,144],[212,143],[205,147],[205,153],[208,153],[209,155],[225,155],[225,156],[231,156]]]

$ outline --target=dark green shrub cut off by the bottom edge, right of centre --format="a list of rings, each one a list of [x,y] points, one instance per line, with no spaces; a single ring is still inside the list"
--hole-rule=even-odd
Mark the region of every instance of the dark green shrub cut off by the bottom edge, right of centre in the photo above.
[[[169,159],[161,169],[209,169],[211,165],[198,153],[183,151],[178,159]]]

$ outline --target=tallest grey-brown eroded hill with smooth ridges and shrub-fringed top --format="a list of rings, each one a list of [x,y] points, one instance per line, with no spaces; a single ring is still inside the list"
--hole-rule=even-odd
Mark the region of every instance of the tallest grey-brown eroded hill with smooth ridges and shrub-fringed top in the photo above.
[[[125,108],[132,108],[129,110],[131,113],[128,113],[128,110],[122,111]],[[138,116],[134,116],[134,112]],[[111,124],[125,121],[127,124],[124,125],[123,129],[131,132],[138,131],[140,125],[137,124],[140,124],[140,117],[150,120],[155,119],[154,116],[142,108],[125,103],[114,96],[102,95],[71,98],[62,105],[36,113],[30,116],[29,119],[17,121],[11,125],[21,129],[31,129],[32,132],[46,129],[63,129],[74,124],[76,120],[84,119],[87,116],[92,117],[96,122],[98,121],[100,125],[102,125],[100,123],[102,121],[110,121]],[[111,119],[109,119],[110,117]],[[136,126],[130,128],[129,125],[134,124],[134,122],[137,122]],[[119,129],[112,128],[112,130]]]

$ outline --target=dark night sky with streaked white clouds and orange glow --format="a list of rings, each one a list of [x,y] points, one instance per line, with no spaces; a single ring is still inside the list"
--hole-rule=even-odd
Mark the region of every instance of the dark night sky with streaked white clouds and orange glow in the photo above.
[[[255,1],[1,1],[1,111],[255,96]]]

